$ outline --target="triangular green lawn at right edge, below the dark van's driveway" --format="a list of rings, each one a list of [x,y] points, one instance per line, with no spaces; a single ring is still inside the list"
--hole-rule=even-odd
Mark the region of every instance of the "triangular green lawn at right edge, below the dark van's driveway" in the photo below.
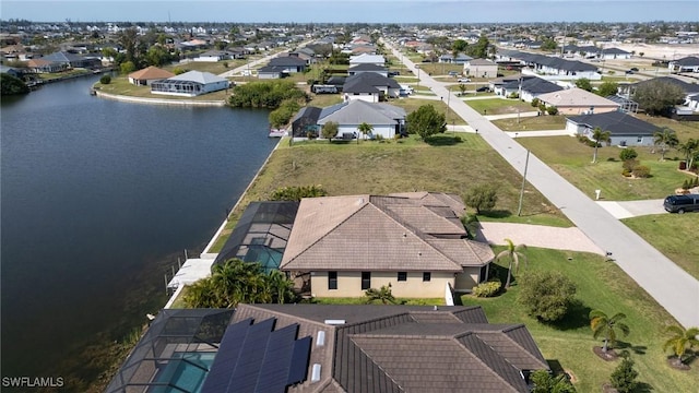
[[[699,279],[699,214],[660,214],[623,219],[629,228]]]

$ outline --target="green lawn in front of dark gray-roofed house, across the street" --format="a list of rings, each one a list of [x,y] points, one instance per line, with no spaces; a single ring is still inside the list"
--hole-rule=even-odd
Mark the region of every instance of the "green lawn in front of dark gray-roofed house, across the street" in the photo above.
[[[637,147],[639,160],[651,168],[648,179],[621,176],[619,147],[599,148],[597,163],[592,164],[593,148],[571,136],[521,138],[518,142],[583,192],[602,190],[606,200],[644,200],[664,198],[690,176],[677,170],[677,162],[659,160],[649,147]],[[671,157],[672,154],[668,155]]]

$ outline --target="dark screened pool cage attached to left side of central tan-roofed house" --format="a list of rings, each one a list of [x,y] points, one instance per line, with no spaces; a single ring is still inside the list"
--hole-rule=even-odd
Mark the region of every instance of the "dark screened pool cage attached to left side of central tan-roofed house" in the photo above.
[[[240,216],[214,264],[238,258],[260,262],[265,272],[282,262],[299,202],[252,202]]]

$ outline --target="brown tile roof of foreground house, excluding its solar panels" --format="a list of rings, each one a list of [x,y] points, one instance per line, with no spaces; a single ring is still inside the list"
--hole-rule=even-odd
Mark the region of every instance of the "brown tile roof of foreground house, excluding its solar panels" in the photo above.
[[[234,322],[247,318],[325,332],[310,355],[321,380],[291,393],[528,392],[521,371],[548,369],[524,325],[488,324],[481,307],[240,305]]]

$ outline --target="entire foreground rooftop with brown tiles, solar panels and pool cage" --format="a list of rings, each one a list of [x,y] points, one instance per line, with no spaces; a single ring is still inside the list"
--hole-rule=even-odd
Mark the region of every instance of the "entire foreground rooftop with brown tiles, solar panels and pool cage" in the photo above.
[[[150,367],[181,361],[173,343],[220,346],[202,393],[524,393],[529,373],[549,368],[523,324],[490,324],[481,307],[238,305],[163,310],[106,392],[181,389]]]

